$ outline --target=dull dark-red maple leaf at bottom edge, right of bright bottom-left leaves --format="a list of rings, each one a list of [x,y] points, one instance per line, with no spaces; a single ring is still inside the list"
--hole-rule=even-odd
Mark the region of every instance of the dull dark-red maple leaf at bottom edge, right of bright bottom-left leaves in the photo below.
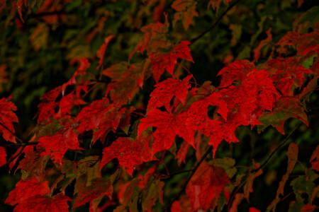
[[[110,199],[113,194],[113,186],[110,179],[96,178],[91,180],[89,187],[84,187],[79,191],[79,196],[75,199],[73,208],[77,208],[86,204],[86,202],[94,201],[95,199],[108,196]]]

